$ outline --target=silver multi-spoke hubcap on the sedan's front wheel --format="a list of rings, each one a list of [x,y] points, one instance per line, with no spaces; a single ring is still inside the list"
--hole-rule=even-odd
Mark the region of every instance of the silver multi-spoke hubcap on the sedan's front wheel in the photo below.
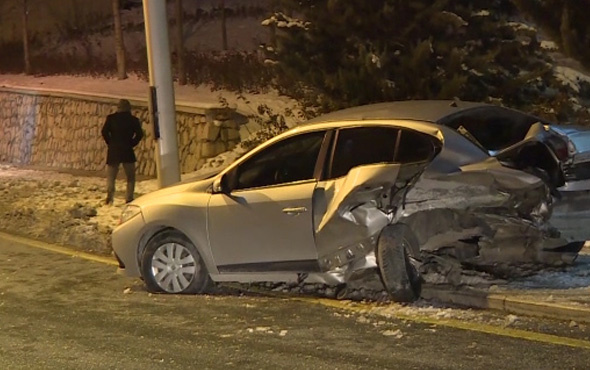
[[[195,258],[182,244],[162,244],[152,257],[154,280],[168,293],[184,291],[197,275],[197,270]]]

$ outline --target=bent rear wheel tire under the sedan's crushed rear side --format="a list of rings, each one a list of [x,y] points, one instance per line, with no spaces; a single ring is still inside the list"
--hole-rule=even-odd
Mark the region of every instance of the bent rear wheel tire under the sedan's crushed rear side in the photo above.
[[[418,239],[406,225],[384,228],[377,241],[379,275],[396,302],[413,302],[420,298],[422,277],[410,262],[415,251],[419,251]]]

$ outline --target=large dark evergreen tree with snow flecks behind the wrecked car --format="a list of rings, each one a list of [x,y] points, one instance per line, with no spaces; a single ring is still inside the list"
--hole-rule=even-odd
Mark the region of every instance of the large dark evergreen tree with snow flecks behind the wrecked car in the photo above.
[[[510,0],[283,0],[280,9],[282,85],[323,110],[455,97],[519,105],[549,72],[534,30],[510,22]]]

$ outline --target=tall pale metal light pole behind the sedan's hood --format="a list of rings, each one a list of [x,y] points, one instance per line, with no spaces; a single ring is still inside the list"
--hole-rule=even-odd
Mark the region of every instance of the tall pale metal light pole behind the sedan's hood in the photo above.
[[[149,108],[156,140],[156,172],[162,188],[180,181],[166,1],[143,0],[143,17],[150,77]]]

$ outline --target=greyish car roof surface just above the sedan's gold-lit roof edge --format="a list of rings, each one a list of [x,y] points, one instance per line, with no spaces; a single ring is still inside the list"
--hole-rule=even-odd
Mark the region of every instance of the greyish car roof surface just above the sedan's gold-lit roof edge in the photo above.
[[[444,117],[489,104],[464,102],[459,100],[408,100],[363,105],[328,113],[307,121],[317,124],[333,121],[362,120],[415,120],[439,122]]]

